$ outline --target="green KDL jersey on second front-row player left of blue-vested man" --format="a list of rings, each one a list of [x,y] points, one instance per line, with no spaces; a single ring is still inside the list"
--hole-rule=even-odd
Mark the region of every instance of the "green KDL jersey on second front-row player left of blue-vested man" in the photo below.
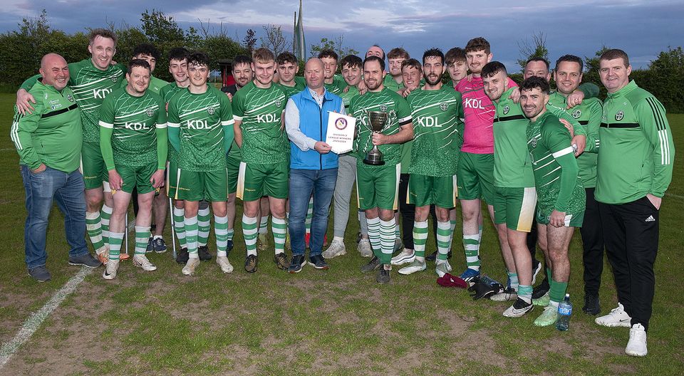
[[[226,168],[234,124],[227,95],[212,85],[201,94],[183,89],[169,101],[168,121],[169,140],[179,152],[181,169],[208,172]]]

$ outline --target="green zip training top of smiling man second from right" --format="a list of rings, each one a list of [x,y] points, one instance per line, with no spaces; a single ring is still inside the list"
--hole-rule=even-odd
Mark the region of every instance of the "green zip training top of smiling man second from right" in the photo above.
[[[567,107],[567,98],[559,92],[549,95],[549,103],[558,107]],[[598,98],[586,98],[580,105],[570,110],[565,110],[574,117],[586,130],[586,149],[577,157],[579,177],[585,188],[596,187],[596,160],[598,159],[598,128],[601,125],[601,100]]]

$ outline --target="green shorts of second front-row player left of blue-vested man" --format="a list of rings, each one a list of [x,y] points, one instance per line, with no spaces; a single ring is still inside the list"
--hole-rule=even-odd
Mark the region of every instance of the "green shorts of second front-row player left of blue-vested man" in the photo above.
[[[178,187],[174,198],[187,201],[227,201],[228,177],[226,169],[187,171],[177,169]]]

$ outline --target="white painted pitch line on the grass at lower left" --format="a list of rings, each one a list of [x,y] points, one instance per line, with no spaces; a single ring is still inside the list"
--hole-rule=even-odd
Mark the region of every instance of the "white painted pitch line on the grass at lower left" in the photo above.
[[[21,326],[19,333],[17,333],[11,341],[4,343],[2,348],[0,348],[0,370],[7,362],[9,362],[9,358],[14,355],[17,350],[19,350],[19,347],[21,347],[21,345],[23,345],[28,338],[31,338],[31,335],[38,330],[38,328],[41,326],[41,323],[43,323],[43,320],[45,320],[48,315],[52,313],[52,311],[55,310],[55,308],[57,308],[67,296],[69,296],[69,294],[73,293],[78,285],[83,282],[83,279],[85,279],[88,274],[93,273],[94,270],[95,269],[86,268],[86,266],[83,266],[81,271],[76,273],[76,276],[71,277],[71,279],[62,288],[60,288],[55,295],[52,296],[50,301],[43,305],[43,308],[38,310],[36,313],[33,313],[33,315],[24,321],[24,325]]]

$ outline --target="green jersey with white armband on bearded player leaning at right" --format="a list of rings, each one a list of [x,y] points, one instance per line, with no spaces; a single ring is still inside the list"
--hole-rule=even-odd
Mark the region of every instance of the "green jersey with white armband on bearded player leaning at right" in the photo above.
[[[570,145],[570,132],[550,111],[530,122],[527,149],[534,169],[537,208],[542,213],[584,211],[586,194]]]

